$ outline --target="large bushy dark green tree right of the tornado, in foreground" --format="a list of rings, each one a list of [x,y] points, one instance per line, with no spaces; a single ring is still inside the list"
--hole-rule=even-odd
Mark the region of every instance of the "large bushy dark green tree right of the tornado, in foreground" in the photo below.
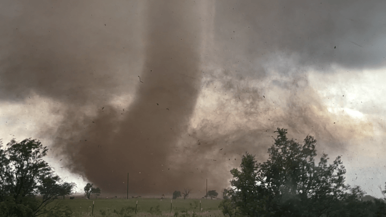
[[[234,179],[231,200],[246,216],[329,216],[346,196],[346,172],[340,156],[328,164],[322,154],[315,163],[316,140],[307,136],[303,144],[287,138],[286,129],[277,129],[269,159],[257,163],[246,153],[240,170],[231,170]]]

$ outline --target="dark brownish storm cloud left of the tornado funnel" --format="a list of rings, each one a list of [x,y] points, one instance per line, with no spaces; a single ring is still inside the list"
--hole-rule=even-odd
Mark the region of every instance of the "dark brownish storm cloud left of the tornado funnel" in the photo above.
[[[36,93],[79,106],[122,91],[114,76],[127,79],[120,65],[135,65],[140,56],[130,40],[138,22],[135,2],[126,2],[126,10],[87,1],[2,4],[9,9],[1,17],[2,100],[20,101]]]

